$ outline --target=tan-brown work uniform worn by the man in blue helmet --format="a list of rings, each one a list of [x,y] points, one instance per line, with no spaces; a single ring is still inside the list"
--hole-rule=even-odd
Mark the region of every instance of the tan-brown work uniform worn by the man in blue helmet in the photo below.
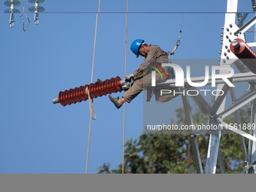
[[[166,52],[164,52],[160,47],[157,45],[150,44],[150,48],[148,50],[147,57],[145,58],[145,61],[142,62],[142,64],[139,66],[139,69],[136,69],[135,72],[133,72],[133,76],[135,79],[135,82],[133,86],[127,90],[123,94],[123,99],[126,100],[126,102],[131,102],[136,96],[139,95],[139,93],[142,92],[142,90],[148,89],[151,87],[151,71],[152,67],[157,68],[154,63],[157,63],[157,65],[161,66],[162,63],[168,63],[169,58]],[[154,70],[154,69],[153,69]],[[166,81],[166,77],[163,74],[162,70],[159,70],[160,73],[156,72],[156,83],[162,83]],[[174,78],[173,77],[173,71],[168,72],[165,71],[167,78]],[[163,77],[163,78],[162,78]],[[172,99],[174,96],[169,94],[166,96],[157,96],[156,100],[157,102],[166,102]]]

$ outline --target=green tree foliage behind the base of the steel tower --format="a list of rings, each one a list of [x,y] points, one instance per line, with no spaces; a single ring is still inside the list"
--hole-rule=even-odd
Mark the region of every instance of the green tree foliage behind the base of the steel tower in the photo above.
[[[186,124],[184,109],[176,110],[177,125]],[[250,108],[239,110],[241,122],[249,123]],[[206,124],[204,114],[196,109],[193,114],[194,123]],[[236,123],[234,114],[224,119],[226,123]],[[197,138],[203,169],[206,167],[206,155],[209,145],[209,134]],[[245,139],[245,144],[248,140]],[[246,146],[246,148],[248,148]],[[220,143],[221,157],[226,173],[239,173],[245,166],[242,148],[237,134],[222,134]],[[121,173],[122,164],[117,169],[110,170],[110,164],[104,163],[98,173]],[[139,139],[130,139],[125,144],[125,173],[196,173],[194,158],[190,148],[190,136],[187,134],[159,134],[145,132]],[[216,172],[220,170],[216,169]]]

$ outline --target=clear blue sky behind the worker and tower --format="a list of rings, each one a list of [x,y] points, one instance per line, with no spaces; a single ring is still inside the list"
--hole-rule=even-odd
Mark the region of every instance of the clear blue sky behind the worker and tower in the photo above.
[[[20,2],[17,9],[22,11]],[[89,103],[62,107],[53,105],[52,99],[59,91],[90,84],[96,14],[76,12],[96,12],[98,3],[46,0],[41,4],[45,12],[39,14],[36,26],[34,14],[28,12],[32,4],[26,1],[25,11],[31,24],[23,32],[21,14],[14,15],[16,22],[11,28],[10,15],[4,14],[8,7],[2,1],[0,173],[85,172]],[[171,59],[218,59],[221,26],[224,26],[224,14],[219,12],[224,13],[226,7],[227,1],[223,0],[190,0],[187,10],[190,14],[184,15],[181,45]],[[129,1],[129,12],[185,12],[186,8],[187,0]],[[100,11],[125,12],[126,0],[102,0]],[[251,1],[240,0],[239,11],[252,12]],[[130,51],[133,40],[143,38],[148,44],[171,51],[181,20],[181,13],[129,14],[127,74],[143,61]],[[126,14],[99,14],[93,81],[124,78],[125,23]],[[181,97],[171,102],[169,115],[175,120],[175,109],[182,105]],[[141,93],[126,105],[125,140],[138,139],[142,134],[142,103]],[[88,173],[98,172],[104,162],[116,169],[122,161],[123,108],[117,110],[108,96],[94,99],[93,105],[97,119],[92,122]]]

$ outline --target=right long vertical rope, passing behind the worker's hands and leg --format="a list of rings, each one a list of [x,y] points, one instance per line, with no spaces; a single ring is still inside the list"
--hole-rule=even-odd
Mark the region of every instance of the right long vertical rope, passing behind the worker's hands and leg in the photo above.
[[[125,62],[124,62],[124,77],[126,76],[126,55],[127,55],[127,21],[128,21],[128,1],[126,6],[126,34],[125,34]],[[123,162],[124,162],[124,129],[125,128],[125,103],[123,104]],[[122,166],[122,174],[124,173],[124,163]]]

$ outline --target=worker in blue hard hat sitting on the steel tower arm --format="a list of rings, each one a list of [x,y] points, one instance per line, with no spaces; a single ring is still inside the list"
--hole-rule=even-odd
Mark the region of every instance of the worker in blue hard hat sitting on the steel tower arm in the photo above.
[[[126,90],[121,99],[119,99],[119,97],[114,98],[111,95],[108,96],[111,102],[113,102],[117,108],[120,108],[124,102],[130,103],[145,88],[147,88],[148,90],[147,101],[149,101],[152,96],[151,70],[153,68],[151,68],[151,66],[154,66],[154,63],[158,63],[158,65],[161,66],[162,63],[167,63],[169,61],[168,54],[164,52],[160,47],[153,44],[148,45],[142,39],[136,39],[135,41],[133,41],[130,50],[132,50],[132,52],[136,55],[137,58],[139,56],[143,56],[145,57],[145,60],[139,66],[139,69],[136,69],[136,71],[133,72],[133,74],[126,75],[125,79],[127,81],[130,81],[131,78],[134,78],[134,84],[132,87],[130,87],[129,90]],[[157,66],[154,66],[154,68],[157,68]],[[166,70],[166,68],[164,69],[167,78],[175,78],[172,68],[168,70]],[[162,83],[164,81],[166,81],[166,77],[165,75],[163,75],[163,72],[162,75],[156,72],[156,83]],[[166,102],[172,99],[173,97],[174,96],[170,94],[166,96],[157,96],[156,94],[157,102]]]

